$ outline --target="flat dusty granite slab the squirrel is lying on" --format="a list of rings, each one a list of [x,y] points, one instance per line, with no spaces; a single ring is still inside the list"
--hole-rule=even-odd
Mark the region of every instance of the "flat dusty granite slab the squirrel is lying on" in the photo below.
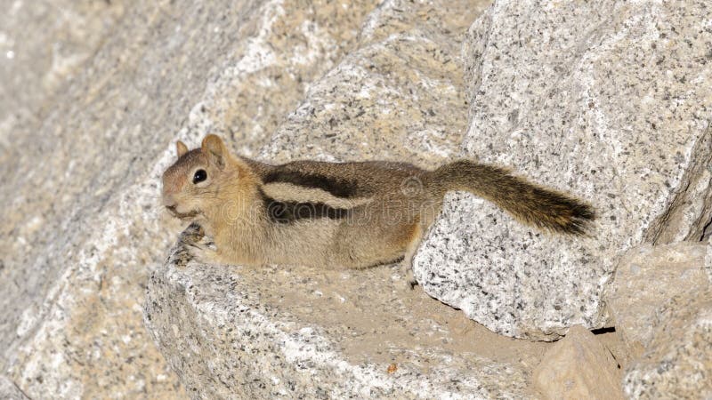
[[[198,264],[192,231],[151,276],[145,319],[193,398],[534,396],[521,343],[404,292],[395,268]],[[482,356],[482,341],[514,356]]]

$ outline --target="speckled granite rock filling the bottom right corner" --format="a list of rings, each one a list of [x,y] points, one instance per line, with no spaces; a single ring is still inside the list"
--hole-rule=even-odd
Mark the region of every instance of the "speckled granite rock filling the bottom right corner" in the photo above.
[[[676,295],[656,314],[645,354],[627,368],[631,398],[712,397],[712,290]]]

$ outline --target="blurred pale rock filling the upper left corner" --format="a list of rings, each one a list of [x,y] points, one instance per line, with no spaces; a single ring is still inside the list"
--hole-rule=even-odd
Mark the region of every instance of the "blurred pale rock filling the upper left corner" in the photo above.
[[[11,133],[41,123],[124,17],[126,2],[0,1],[0,163]]]

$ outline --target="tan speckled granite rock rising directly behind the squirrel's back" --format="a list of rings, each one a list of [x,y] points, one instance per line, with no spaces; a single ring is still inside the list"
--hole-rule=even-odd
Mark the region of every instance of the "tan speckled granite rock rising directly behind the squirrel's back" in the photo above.
[[[260,157],[447,160],[467,123],[460,43],[486,4],[384,1],[364,23],[360,47],[312,84]]]

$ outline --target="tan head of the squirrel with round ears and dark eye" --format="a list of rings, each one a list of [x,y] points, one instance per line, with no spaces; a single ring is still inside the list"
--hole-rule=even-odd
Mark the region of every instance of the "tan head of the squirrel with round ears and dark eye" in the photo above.
[[[219,205],[247,166],[231,157],[219,137],[210,134],[200,148],[188,150],[182,141],[175,144],[178,160],[163,173],[163,205],[175,217],[190,220]]]

